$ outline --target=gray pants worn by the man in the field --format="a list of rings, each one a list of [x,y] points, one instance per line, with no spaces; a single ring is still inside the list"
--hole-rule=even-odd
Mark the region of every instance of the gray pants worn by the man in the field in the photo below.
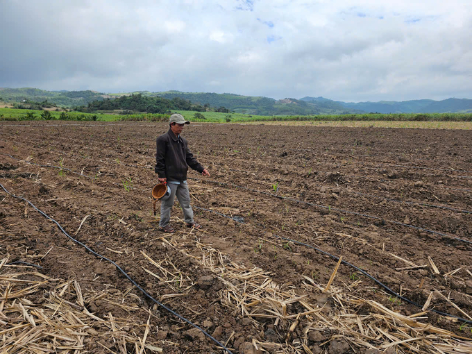
[[[180,185],[176,185],[174,183],[167,183],[167,185],[171,189],[171,196],[166,201],[160,202],[160,220],[159,226],[164,228],[169,224],[171,219],[171,210],[174,206],[174,200],[176,199],[183,210],[183,217],[184,221],[187,224],[194,224],[194,211],[190,206],[190,194],[189,194],[189,187],[187,183],[180,183]]]

